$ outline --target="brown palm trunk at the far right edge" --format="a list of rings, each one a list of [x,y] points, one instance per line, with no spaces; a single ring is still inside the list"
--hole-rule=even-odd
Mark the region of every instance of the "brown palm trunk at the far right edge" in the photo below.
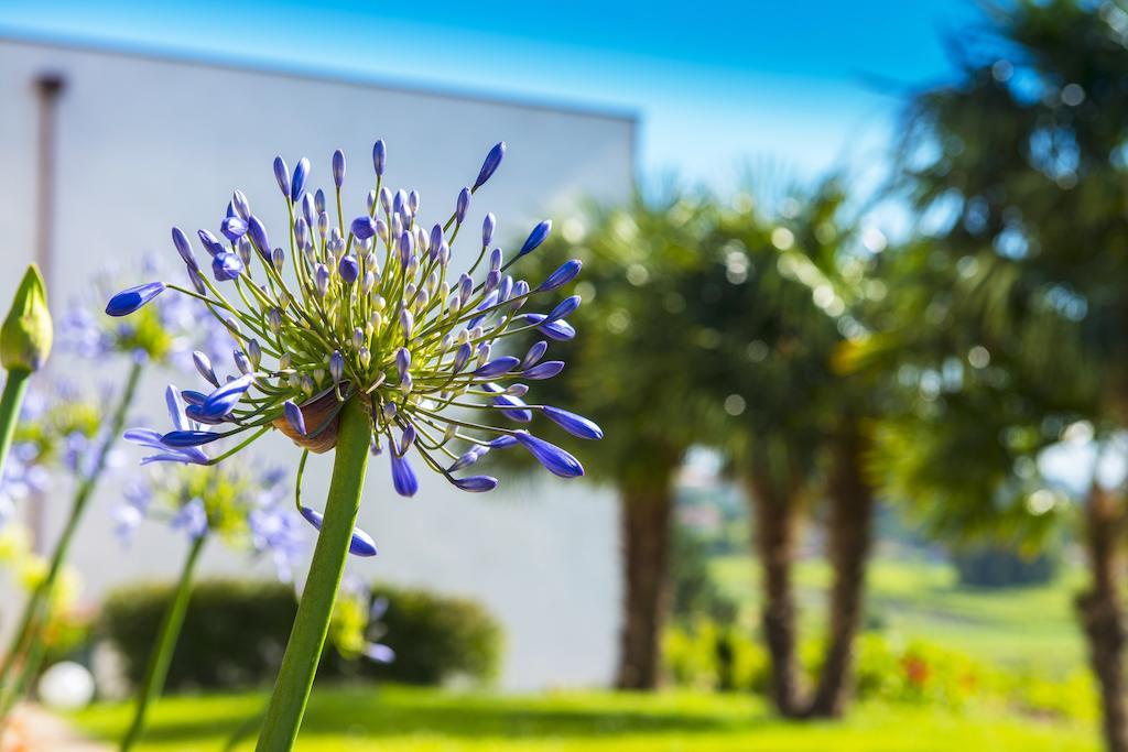
[[[1109,752],[1128,752],[1128,716],[1121,666],[1125,629],[1120,617],[1117,541],[1121,515],[1113,496],[1095,481],[1086,505],[1086,542],[1092,585],[1077,596],[1077,613],[1089,638],[1089,656],[1101,689],[1104,744]]]

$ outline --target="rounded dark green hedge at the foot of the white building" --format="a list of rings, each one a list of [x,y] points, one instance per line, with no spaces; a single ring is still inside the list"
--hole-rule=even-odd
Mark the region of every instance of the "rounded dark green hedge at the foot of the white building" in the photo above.
[[[488,681],[497,671],[502,631],[475,601],[421,590],[376,585],[390,605],[379,642],[396,651],[388,665],[347,661],[326,648],[321,679],[368,678],[439,684],[453,676]],[[149,648],[171,598],[170,584],[139,584],[111,593],[98,634],[123,660],[125,678],[144,675]],[[276,582],[204,580],[196,583],[168,671],[168,691],[233,689],[274,679],[297,612],[293,591]]]

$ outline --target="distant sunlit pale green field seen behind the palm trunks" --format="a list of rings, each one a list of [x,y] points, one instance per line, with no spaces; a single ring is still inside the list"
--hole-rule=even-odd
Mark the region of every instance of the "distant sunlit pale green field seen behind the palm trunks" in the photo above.
[[[756,608],[750,557],[714,559],[713,573],[732,598]],[[1045,586],[1008,590],[960,587],[951,566],[878,558],[870,568],[866,612],[887,634],[922,638],[978,660],[1061,675],[1085,669],[1084,644],[1073,614],[1083,574],[1070,572]],[[796,585],[807,635],[823,623],[830,567],[803,561]]]

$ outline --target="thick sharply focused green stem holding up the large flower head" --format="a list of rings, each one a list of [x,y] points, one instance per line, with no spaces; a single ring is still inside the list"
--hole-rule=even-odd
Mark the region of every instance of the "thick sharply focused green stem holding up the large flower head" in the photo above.
[[[371,434],[368,402],[362,396],[354,396],[341,412],[325,520],[255,747],[258,752],[290,752],[298,738],[360,511]]]

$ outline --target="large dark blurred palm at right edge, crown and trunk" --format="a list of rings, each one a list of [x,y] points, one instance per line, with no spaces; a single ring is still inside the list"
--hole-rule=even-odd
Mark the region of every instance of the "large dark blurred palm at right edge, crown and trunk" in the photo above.
[[[952,45],[955,81],[916,94],[904,131],[904,185],[934,236],[913,274],[933,297],[906,301],[902,325],[871,343],[908,345],[926,399],[916,427],[895,428],[893,452],[910,451],[891,469],[904,492],[942,502],[952,529],[1032,498],[1040,446],[1078,422],[1107,445],[1128,407],[1128,10],[985,9]],[[1122,485],[1092,483],[1085,516],[1092,581],[1077,608],[1105,742],[1122,752]]]

